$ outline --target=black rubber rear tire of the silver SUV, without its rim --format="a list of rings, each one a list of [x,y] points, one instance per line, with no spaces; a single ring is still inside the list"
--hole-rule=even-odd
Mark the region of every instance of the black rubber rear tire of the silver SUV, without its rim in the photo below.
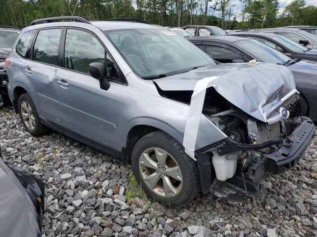
[[[34,116],[34,120],[35,120],[35,126],[34,126],[33,130],[28,128],[28,126],[26,125],[25,121],[22,118],[21,104],[23,101],[27,102],[32,108],[33,116]],[[23,123],[25,130],[27,130],[29,133],[31,133],[32,136],[35,136],[35,137],[42,136],[49,131],[49,128],[40,122],[39,114],[36,110],[35,104],[31,98],[31,96],[28,93],[20,95],[19,101],[18,101],[18,109],[19,109],[20,118],[21,118],[21,121]]]

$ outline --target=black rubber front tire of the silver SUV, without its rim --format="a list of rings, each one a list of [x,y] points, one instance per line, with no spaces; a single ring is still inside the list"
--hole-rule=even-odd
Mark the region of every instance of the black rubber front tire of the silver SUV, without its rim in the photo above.
[[[170,154],[181,170],[183,178],[182,188],[174,197],[162,197],[158,195],[143,181],[139,160],[142,153],[152,147],[162,149]],[[177,140],[165,132],[155,131],[142,137],[132,151],[131,163],[134,175],[141,187],[148,196],[160,203],[172,206],[186,205],[193,200],[201,190],[197,162],[184,152],[184,147]]]

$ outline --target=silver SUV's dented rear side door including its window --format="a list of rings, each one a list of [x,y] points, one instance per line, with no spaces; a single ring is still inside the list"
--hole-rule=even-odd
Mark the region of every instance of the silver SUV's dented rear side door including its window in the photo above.
[[[34,91],[37,110],[41,118],[53,122],[53,126],[62,132],[64,111],[60,104],[56,79],[58,48],[63,28],[45,28],[37,31],[30,50],[30,60],[24,63],[24,73],[29,83],[26,86]]]

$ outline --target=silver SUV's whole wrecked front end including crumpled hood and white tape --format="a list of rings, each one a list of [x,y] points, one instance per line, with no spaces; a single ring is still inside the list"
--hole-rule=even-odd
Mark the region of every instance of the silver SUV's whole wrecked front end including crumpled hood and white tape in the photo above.
[[[197,160],[202,192],[244,201],[260,193],[265,176],[297,163],[315,126],[310,118],[296,116],[299,92],[286,67],[221,67],[220,72],[206,67],[155,82],[160,95],[190,104],[183,146]],[[218,134],[202,124],[205,118]],[[216,135],[222,138],[215,141]]]

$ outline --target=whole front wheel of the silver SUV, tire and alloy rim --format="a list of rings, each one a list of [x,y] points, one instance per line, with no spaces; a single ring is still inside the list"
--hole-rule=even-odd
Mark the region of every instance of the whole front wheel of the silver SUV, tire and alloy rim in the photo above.
[[[132,152],[132,169],[145,192],[163,204],[185,205],[200,191],[196,161],[162,131],[138,141]]]

